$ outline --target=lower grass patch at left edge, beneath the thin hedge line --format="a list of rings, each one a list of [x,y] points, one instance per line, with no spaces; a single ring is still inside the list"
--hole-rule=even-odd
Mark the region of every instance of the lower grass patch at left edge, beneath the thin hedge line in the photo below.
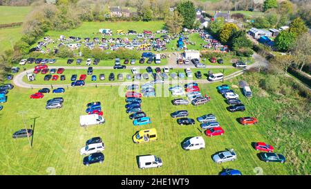
[[[12,50],[21,37],[21,27],[0,29],[0,54]]]

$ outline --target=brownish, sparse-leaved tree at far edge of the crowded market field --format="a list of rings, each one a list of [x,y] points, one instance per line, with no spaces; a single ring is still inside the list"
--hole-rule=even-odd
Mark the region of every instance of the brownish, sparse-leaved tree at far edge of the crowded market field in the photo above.
[[[165,25],[169,29],[169,33],[180,33],[182,31],[182,23],[184,19],[177,10],[174,10],[167,19],[165,19]]]

